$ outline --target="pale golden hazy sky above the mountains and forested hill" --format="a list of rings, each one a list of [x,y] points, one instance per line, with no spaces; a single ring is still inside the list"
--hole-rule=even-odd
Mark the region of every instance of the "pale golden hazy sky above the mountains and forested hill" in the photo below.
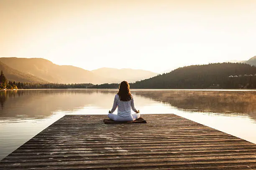
[[[256,55],[256,0],[0,0],[0,57],[162,72]]]

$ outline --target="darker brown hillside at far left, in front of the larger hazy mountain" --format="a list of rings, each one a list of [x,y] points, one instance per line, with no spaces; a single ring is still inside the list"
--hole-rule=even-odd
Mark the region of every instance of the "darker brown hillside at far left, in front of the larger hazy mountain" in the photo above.
[[[3,62],[0,62],[0,70],[3,70],[3,73],[8,81],[11,80],[16,82],[41,82],[41,83],[45,82],[46,83],[46,81],[41,78],[15,70],[9,67],[8,65],[4,64]]]

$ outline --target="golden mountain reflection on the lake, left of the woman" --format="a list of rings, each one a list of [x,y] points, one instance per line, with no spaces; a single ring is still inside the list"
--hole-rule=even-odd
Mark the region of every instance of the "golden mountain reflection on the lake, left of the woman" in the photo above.
[[[116,90],[104,92],[99,90],[0,91],[0,119],[7,117],[43,119],[55,111],[75,111],[90,105],[110,107],[112,105],[112,101],[109,100],[112,98],[110,94],[115,92]]]

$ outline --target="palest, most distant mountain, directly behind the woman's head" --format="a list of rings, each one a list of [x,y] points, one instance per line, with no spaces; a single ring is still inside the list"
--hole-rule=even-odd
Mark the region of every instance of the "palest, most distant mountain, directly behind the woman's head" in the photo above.
[[[108,81],[106,81],[106,83],[107,82],[120,83],[123,80],[128,82],[135,82],[138,80],[143,80],[143,79],[154,77],[157,75],[157,73],[155,72],[146,71],[146,70],[135,70],[130,68],[116,69],[116,68],[103,67],[97,70],[92,70],[92,72],[98,76],[108,77]]]

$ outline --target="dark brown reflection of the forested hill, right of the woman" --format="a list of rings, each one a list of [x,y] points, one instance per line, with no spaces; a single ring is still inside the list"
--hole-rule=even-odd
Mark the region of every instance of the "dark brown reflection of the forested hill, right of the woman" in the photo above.
[[[135,93],[185,111],[248,115],[256,121],[256,91],[138,90]]]

